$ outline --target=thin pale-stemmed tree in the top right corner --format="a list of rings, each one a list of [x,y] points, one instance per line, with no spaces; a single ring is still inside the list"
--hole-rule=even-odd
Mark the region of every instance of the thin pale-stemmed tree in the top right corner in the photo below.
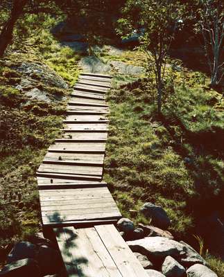
[[[203,35],[205,53],[211,73],[211,86],[215,87],[221,82],[224,75],[224,4],[220,0],[200,0],[200,4],[200,21],[196,26]]]

